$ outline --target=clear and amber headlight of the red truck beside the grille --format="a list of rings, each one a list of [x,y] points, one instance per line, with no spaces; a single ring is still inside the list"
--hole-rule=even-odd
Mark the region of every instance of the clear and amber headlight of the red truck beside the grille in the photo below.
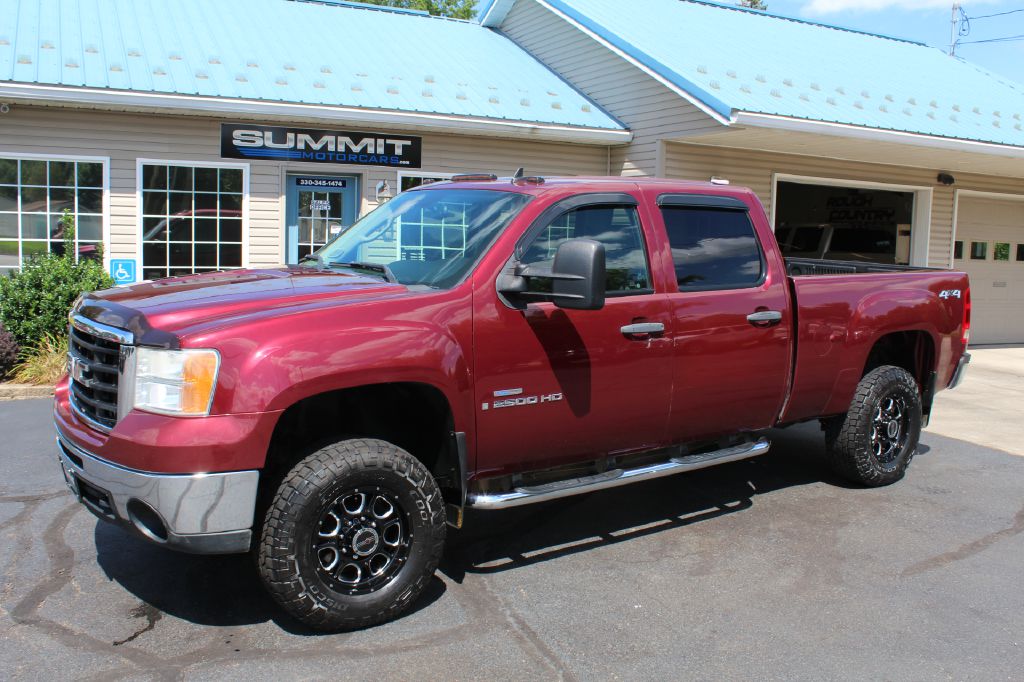
[[[220,353],[188,348],[135,350],[134,407],[165,415],[205,417],[217,385]]]

